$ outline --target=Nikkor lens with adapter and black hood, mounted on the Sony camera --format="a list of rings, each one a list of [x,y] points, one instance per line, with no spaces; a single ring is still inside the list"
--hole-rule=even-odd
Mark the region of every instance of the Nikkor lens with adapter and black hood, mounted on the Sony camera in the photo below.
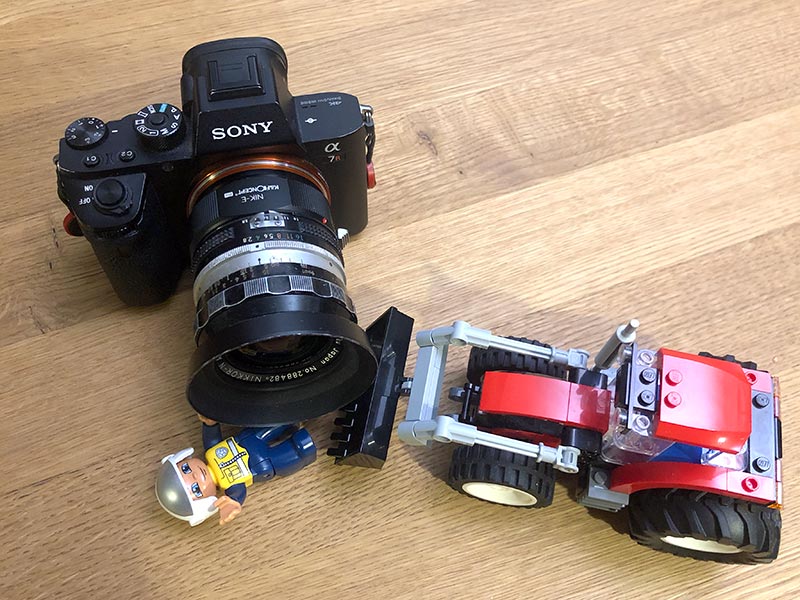
[[[365,392],[377,363],[319,172],[291,156],[241,157],[206,172],[188,210],[195,410],[232,425],[293,423]]]

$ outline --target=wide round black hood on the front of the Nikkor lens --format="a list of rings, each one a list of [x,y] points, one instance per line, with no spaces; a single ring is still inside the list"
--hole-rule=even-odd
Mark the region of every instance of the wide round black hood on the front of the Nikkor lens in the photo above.
[[[199,340],[187,386],[198,413],[237,426],[297,423],[337,410],[369,389],[377,359],[367,335],[345,314],[325,310],[330,301],[307,296],[256,300],[228,309],[222,324],[212,320],[213,330]],[[221,368],[232,351],[286,336],[331,338],[335,360],[300,378],[270,382],[237,379]]]

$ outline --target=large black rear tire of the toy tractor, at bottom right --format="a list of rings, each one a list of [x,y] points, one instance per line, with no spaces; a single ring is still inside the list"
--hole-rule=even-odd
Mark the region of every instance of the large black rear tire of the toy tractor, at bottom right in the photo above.
[[[646,490],[631,495],[631,537],[649,548],[721,563],[768,563],[778,556],[781,513],[775,508],[692,490]],[[678,546],[665,536],[719,542],[739,552]]]

